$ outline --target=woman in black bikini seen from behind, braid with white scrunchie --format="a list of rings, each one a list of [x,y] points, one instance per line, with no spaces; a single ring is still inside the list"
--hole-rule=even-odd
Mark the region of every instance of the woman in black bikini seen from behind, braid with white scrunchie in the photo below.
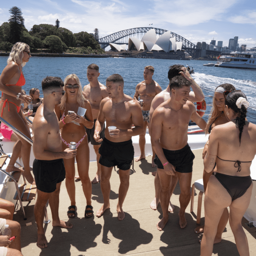
[[[204,158],[204,169],[211,175],[204,197],[205,225],[201,243],[201,256],[210,256],[221,215],[229,206],[230,227],[240,255],[249,256],[247,237],[241,220],[252,194],[250,165],[256,154],[256,125],[245,120],[249,102],[241,91],[226,95],[224,113],[226,124],[211,131]]]

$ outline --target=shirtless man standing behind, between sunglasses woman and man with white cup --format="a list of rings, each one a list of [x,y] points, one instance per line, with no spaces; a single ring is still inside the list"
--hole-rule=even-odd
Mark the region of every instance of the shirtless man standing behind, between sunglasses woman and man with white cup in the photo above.
[[[95,122],[98,117],[98,113],[100,111],[100,102],[102,99],[108,97],[108,93],[106,92],[106,86],[104,86],[102,83],[98,82],[98,76],[99,73],[99,67],[96,64],[91,64],[87,67],[87,79],[89,81],[89,84],[85,85],[83,87],[84,95],[86,95],[87,100],[89,100],[91,104],[91,108],[93,111],[93,120],[94,125],[92,129],[88,129],[85,127],[88,142],[91,141],[91,145],[93,145],[93,148],[96,153],[96,159],[97,159],[97,172],[95,178],[91,181],[93,184],[100,182],[100,154],[99,154],[99,148],[101,142],[96,142],[95,139],[93,139],[94,130],[95,130]],[[104,139],[104,131],[105,131],[105,124],[103,126],[103,130],[100,133],[100,138]]]

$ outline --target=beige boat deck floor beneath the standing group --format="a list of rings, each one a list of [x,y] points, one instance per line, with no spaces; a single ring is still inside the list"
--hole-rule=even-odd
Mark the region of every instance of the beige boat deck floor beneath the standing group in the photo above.
[[[203,162],[202,149],[193,150],[196,158],[193,166],[192,184],[202,178]],[[178,212],[180,210],[180,187],[177,184],[171,202],[174,213],[169,213],[169,222],[163,231],[158,231],[156,223],[161,219],[162,210],[150,209],[153,200],[154,177],[151,175],[156,168],[151,167],[151,156],[141,162],[134,162],[134,173],[130,175],[130,187],[124,201],[125,219],[118,221],[116,205],[118,200],[119,176],[114,171],[111,176],[110,209],[100,218],[96,216],[85,219],[86,206],[81,182],[76,182],[77,217],[69,219],[67,208],[70,205],[65,182],[61,186],[59,200],[59,217],[74,224],[72,229],[52,227],[52,223],[45,224],[48,248],[40,249],[36,245],[37,226],[33,215],[35,201],[30,204],[24,202],[27,220],[23,220],[22,211],[15,212],[14,220],[21,224],[21,247],[24,256],[84,256],[86,255],[147,255],[147,256],[199,256],[202,234],[195,234],[198,191],[196,190],[194,212],[190,213],[190,204],[186,210],[187,227],[179,227]],[[95,177],[96,162],[90,163],[89,176]],[[204,197],[203,197],[204,200]],[[103,197],[100,184],[92,185],[92,205],[94,211],[100,208]],[[48,217],[52,219],[50,207]],[[256,228],[250,229],[243,218],[243,228],[249,242],[250,255],[256,255]],[[26,226],[26,223],[32,223]],[[202,205],[201,223],[204,223],[204,206]],[[223,241],[214,245],[213,255],[238,256],[235,239],[229,224],[223,233]]]

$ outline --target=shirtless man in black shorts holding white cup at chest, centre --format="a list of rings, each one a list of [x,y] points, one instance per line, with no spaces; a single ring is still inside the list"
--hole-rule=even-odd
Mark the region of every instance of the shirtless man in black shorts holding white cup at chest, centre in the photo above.
[[[124,80],[119,74],[113,74],[106,80],[108,97],[100,103],[100,112],[95,124],[94,139],[102,142],[100,146],[101,181],[100,187],[104,198],[104,204],[97,211],[100,217],[110,207],[109,193],[111,172],[113,166],[119,168],[119,199],[117,204],[117,216],[124,219],[122,205],[129,188],[130,166],[134,159],[134,147],[132,136],[143,133],[143,117],[139,104],[130,96],[124,94]],[[116,129],[105,130],[105,138],[100,139],[100,132],[106,120],[107,127],[115,126]],[[132,128],[134,124],[134,128]]]

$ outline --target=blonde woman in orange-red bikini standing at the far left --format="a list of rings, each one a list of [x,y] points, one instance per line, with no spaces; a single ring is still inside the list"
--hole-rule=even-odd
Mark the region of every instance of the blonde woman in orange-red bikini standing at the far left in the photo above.
[[[0,76],[0,91],[2,91],[0,109],[3,119],[31,139],[26,118],[20,109],[22,102],[29,103],[31,101],[30,96],[21,95],[22,86],[25,84],[22,67],[29,61],[30,57],[30,48],[27,44],[18,42],[13,46],[7,59],[7,66]],[[24,164],[24,176],[30,184],[35,184],[29,165],[31,145],[20,136],[18,137],[22,143],[21,157]],[[16,152],[15,147],[13,152]],[[14,164],[15,158],[12,157],[6,171],[20,171]]]

